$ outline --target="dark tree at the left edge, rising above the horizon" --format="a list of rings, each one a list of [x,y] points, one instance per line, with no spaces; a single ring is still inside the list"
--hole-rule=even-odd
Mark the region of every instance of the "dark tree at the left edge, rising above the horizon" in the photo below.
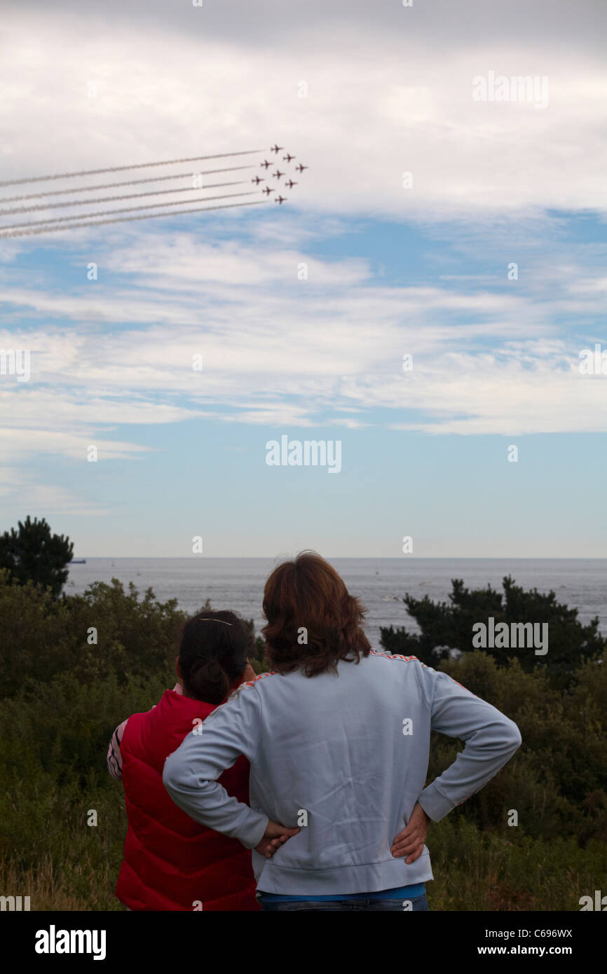
[[[57,598],[61,592],[71,561],[74,545],[63,535],[52,535],[44,517],[27,516],[19,521],[19,530],[11,528],[0,535],[0,568],[7,568],[12,581],[24,585],[27,581],[49,587]]]

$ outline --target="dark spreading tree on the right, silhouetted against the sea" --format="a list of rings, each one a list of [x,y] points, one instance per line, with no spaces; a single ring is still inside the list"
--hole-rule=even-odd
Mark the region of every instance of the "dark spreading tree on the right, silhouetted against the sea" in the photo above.
[[[421,633],[407,632],[404,627],[383,628],[384,649],[403,656],[417,656],[435,666],[439,659],[452,655],[451,649],[472,652],[474,631],[477,631],[473,627],[478,623],[486,625],[489,618],[493,618],[495,627],[506,623],[511,632],[512,625],[531,623],[537,626],[538,632],[546,632],[545,654],[536,654],[527,645],[512,648],[512,642],[504,647],[487,644],[486,652],[498,666],[506,666],[516,656],[525,672],[545,667],[552,682],[562,687],[569,684],[572,671],[583,658],[600,659],[605,652],[606,641],[598,631],[598,618],[583,625],[577,618],[578,610],[558,603],[554,592],[544,594],[537,588],[524,591],[511,576],[503,580],[503,594],[491,585],[471,591],[460,579],[452,579],[451,586],[448,603],[432,602],[427,595],[423,599],[405,595],[402,601]]]

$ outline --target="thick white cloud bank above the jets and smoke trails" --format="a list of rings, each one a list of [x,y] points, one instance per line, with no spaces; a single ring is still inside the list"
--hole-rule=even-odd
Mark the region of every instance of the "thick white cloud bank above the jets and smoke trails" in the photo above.
[[[162,25],[144,18],[142,35],[140,20],[118,31],[90,8],[86,20],[78,10],[41,14],[32,29],[13,8],[1,61],[6,178],[269,147],[279,136],[310,165],[292,197],[303,210],[431,220],[605,211],[607,78],[590,32],[575,44],[564,31],[556,42],[520,23],[505,30],[509,8],[488,39],[481,29],[462,36],[460,14],[461,41],[449,44],[444,4],[433,20],[400,10],[393,29],[385,16],[373,26],[353,11],[338,44],[328,24],[302,14],[268,48],[238,25],[213,32],[198,12],[186,21],[165,11]],[[474,101],[473,79],[489,71],[547,76],[548,107]]]

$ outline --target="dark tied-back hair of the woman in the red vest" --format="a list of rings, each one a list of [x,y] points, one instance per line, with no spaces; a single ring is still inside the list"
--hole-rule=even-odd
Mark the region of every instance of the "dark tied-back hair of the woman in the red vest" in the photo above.
[[[179,665],[188,696],[221,703],[247,666],[253,634],[232,612],[205,610],[183,626]]]

